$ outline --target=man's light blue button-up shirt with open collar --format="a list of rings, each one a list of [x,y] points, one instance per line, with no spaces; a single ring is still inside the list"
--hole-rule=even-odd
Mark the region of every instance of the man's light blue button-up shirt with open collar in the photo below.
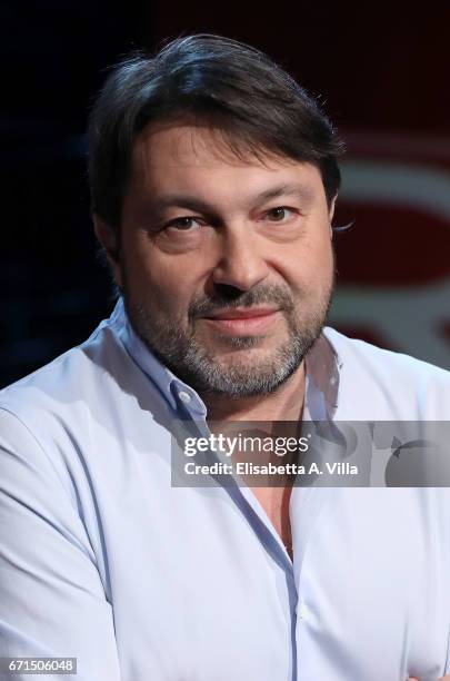
[[[306,418],[447,420],[449,376],[326,328]],[[250,488],[171,486],[169,424],[206,406],[121,302],[0,406],[0,657],[77,657],[79,681],[450,671],[447,488],[294,487],[292,563]]]

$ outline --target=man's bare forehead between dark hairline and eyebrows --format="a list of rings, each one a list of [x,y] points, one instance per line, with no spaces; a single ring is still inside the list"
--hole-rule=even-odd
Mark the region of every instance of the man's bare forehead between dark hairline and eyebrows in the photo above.
[[[239,195],[271,184],[299,181],[324,196],[319,169],[270,150],[256,150],[208,126],[148,126],[134,142],[130,184],[134,190]]]

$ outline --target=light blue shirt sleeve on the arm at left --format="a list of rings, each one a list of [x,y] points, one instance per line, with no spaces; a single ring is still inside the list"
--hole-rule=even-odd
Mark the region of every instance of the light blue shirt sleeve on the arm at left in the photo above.
[[[112,608],[82,521],[48,454],[3,408],[0,657],[77,658],[77,675],[39,679],[120,681]],[[0,679],[30,675],[0,673]]]

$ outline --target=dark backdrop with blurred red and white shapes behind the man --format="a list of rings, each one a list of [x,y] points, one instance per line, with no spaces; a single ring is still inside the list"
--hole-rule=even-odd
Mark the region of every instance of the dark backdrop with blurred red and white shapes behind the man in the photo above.
[[[200,31],[267,51],[348,141],[337,219],[354,227],[337,243],[333,324],[450,368],[449,26],[447,3],[3,1],[0,386],[83,340],[111,309],[86,181],[86,119],[104,68]],[[387,187],[384,198],[358,185],[361,168],[374,168],[364,181]]]

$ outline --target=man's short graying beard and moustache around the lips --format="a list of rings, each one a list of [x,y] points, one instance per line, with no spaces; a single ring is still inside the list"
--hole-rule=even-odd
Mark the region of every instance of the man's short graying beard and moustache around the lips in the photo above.
[[[126,278],[123,279],[126,282]],[[326,324],[331,304],[332,288],[308,319],[298,320],[290,296],[279,288],[266,288],[261,294],[249,290],[232,300],[193,302],[188,318],[220,307],[233,308],[257,304],[280,305],[288,327],[288,337],[263,359],[239,359],[228,365],[218,361],[196,339],[193,325],[183,330],[181,323],[164,319],[158,327],[142,304],[134,304],[124,286],[124,306],[130,323],[146,346],[181,381],[203,394],[229,397],[253,397],[277,391],[299,368]],[[201,316],[201,315],[200,315]],[[230,349],[248,349],[261,343],[261,336],[223,336],[221,342]]]

